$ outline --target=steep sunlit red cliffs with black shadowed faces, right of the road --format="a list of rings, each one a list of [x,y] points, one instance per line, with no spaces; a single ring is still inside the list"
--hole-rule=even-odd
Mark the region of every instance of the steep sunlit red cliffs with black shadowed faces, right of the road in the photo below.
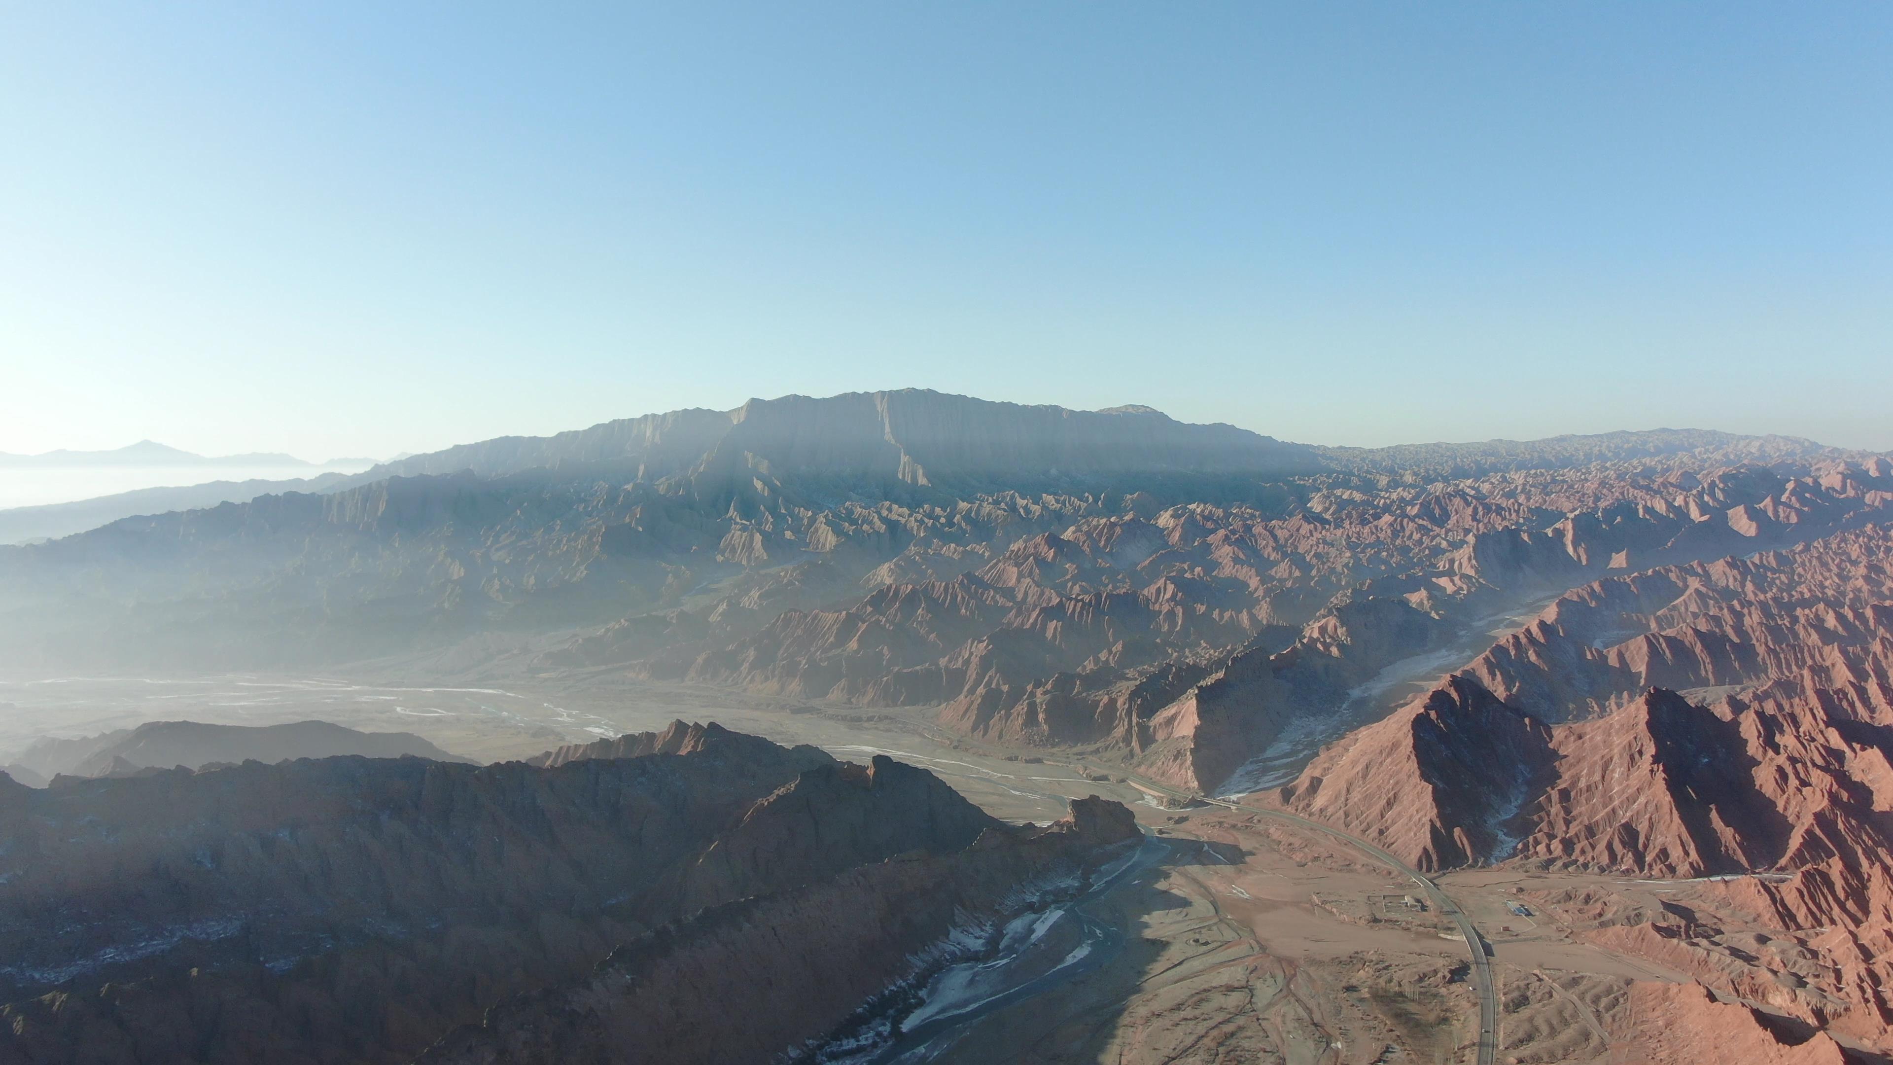
[[[1878,877],[1893,855],[1885,726],[1796,688],[1715,707],[1656,688],[1545,726],[1460,675],[1274,798],[1427,868],[1522,858],[1700,877],[1838,860]]]

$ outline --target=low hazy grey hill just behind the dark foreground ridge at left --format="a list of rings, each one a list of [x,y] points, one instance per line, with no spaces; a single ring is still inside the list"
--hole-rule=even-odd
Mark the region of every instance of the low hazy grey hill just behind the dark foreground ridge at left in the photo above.
[[[146,722],[85,739],[40,739],[0,766],[23,785],[68,777],[104,777],[129,767],[197,769],[212,762],[282,762],[290,758],[432,758],[471,762],[407,731],[356,731],[329,722],[235,726],[204,722]],[[27,773],[17,773],[25,769]],[[38,777],[38,779],[34,779]]]

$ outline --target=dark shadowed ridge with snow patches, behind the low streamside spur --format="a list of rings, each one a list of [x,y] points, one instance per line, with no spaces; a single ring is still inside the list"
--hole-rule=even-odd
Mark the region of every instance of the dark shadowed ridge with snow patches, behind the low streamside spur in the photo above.
[[[0,781],[0,1057],[407,1061],[706,906],[1003,836],[886,760],[681,722],[621,749]]]

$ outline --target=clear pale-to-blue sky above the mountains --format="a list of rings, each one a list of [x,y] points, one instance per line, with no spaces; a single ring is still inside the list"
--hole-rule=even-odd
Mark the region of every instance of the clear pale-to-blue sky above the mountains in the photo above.
[[[1893,447],[1885,0],[621,8],[6,6],[0,451],[907,385]]]

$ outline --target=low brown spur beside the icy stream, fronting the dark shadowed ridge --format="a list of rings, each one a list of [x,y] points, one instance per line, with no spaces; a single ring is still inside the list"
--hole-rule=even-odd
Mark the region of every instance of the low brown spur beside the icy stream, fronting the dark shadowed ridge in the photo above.
[[[1079,891],[1109,847],[1136,838],[1123,805],[1077,800],[1049,828],[988,828],[956,853],[901,855],[706,910],[619,948],[591,976],[502,1002],[422,1061],[776,1061],[911,976],[956,930],[1005,915],[1022,889]],[[746,1004],[740,1018],[733,1002]]]

